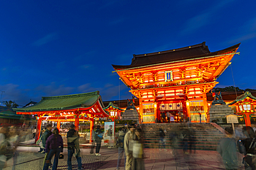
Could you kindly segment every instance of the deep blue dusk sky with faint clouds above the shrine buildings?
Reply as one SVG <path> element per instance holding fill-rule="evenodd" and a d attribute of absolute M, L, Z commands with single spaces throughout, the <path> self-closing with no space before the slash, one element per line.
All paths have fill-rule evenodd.
<path fill-rule="evenodd" d="M 232 59 L 235 85 L 255 89 L 255 6 L 235 0 L 1 1 L 1 100 L 26 105 L 96 90 L 102 100 L 131 98 L 111 64 L 203 41 L 211 52 L 241 43 Z M 217 87 L 234 85 L 232 72 L 228 67 Z"/>

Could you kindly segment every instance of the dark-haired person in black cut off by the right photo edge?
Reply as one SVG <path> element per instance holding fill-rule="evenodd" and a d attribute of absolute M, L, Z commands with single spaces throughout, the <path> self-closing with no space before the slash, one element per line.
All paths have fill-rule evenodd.
<path fill-rule="evenodd" d="M 239 148 L 240 153 L 244 153 L 243 163 L 244 168 L 248 169 L 256 169 L 256 135 L 253 131 L 252 127 L 243 127 L 242 129 L 244 135 L 246 136 L 245 139 L 239 140 L 241 142 L 242 147 L 244 149 Z M 241 151 L 242 150 L 242 151 Z"/>

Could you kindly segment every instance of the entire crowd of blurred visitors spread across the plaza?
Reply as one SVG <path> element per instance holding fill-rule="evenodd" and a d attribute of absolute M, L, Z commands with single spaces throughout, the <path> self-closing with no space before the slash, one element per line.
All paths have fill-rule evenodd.
<path fill-rule="evenodd" d="M 80 151 L 79 134 L 75 130 L 75 125 L 71 124 L 68 127 L 66 134 L 68 158 L 68 169 L 72 169 L 72 157 L 77 160 L 77 169 L 82 169 L 82 154 Z M 15 169 L 17 164 L 17 147 L 21 140 L 21 131 L 18 127 L 0 127 L 0 170 L 6 166 L 6 162 L 12 160 L 12 169 Z M 33 129 L 33 138 L 35 138 L 35 130 Z M 225 128 L 226 136 L 221 138 L 217 151 L 220 153 L 226 169 L 239 169 L 239 153 L 244 155 L 243 163 L 246 170 L 256 169 L 256 133 L 252 127 L 232 127 Z M 101 156 L 100 147 L 104 132 L 101 127 L 94 126 L 92 131 L 92 139 L 90 153 L 95 156 Z M 196 134 L 193 127 L 177 127 L 176 131 L 167 132 L 165 129 L 155 129 L 155 143 L 151 145 L 159 151 L 167 151 L 165 148 L 168 143 L 168 151 L 174 156 L 176 149 L 183 149 L 183 153 L 192 153 L 196 149 Z M 145 164 L 143 158 L 143 131 L 140 125 L 131 124 L 127 127 L 121 127 L 116 133 L 116 147 L 118 147 L 118 160 L 116 170 L 124 166 L 126 170 L 143 170 Z M 43 170 L 57 169 L 59 158 L 63 158 L 63 139 L 60 136 L 59 129 L 53 129 L 51 124 L 46 125 L 41 131 L 41 136 L 37 140 L 37 145 L 40 146 L 39 152 L 44 153 Z M 51 162 L 52 158 L 53 163 Z M 123 159 L 124 158 L 124 159 Z"/>

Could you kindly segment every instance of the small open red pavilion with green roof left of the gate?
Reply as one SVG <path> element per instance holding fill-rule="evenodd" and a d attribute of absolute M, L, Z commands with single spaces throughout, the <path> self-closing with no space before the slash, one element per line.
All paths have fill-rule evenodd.
<path fill-rule="evenodd" d="M 90 121 L 91 132 L 95 118 L 109 117 L 109 113 L 103 107 L 100 92 L 96 91 L 84 94 L 42 97 L 42 100 L 35 105 L 14 110 L 17 111 L 17 114 L 37 115 L 37 132 L 39 133 L 42 120 L 57 122 L 58 129 L 60 129 L 60 123 L 62 122 L 75 122 L 76 130 L 78 130 L 80 121 Z M 36 141 L 40 136 L 39 133 L 36 136 Z"/>

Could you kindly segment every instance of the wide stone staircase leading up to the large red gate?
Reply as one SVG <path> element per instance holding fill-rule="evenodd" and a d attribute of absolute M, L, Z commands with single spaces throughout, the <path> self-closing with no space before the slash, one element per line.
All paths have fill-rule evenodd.
<path fill-rule="evenodd" d="M 186 135 L 190 136 L 188 144 L 192 143 L 194 149 L 216 150 L 219 140 L 224 136 L 210 123 L 190 123 L 190 125 L 188 123 L 152 123 L 143 124 L 140 127 L 143 129 L 145 148 L 159 148 L 159 128 L 165 131 L 165 148 L 167 149 L 172 147 L 183 149 L 183 136 Z"/>

